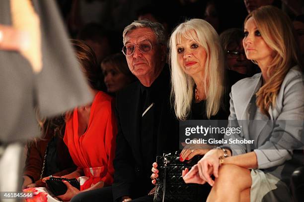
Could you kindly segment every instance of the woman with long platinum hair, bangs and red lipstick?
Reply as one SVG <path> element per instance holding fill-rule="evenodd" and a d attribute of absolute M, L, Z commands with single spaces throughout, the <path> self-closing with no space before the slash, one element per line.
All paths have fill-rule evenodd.
<path fill-rule="evenodd" d="M 170 42 L 171 98 L 179 120 L 227 120 L 231 85 L 244 78 L 225 69 L 225 57 L 216 30 L 205 20 L 191 19 L 179 24 Z M 186 145 L 180 161 L 203 155 L 208 147 Z M 152 183 L 158 177 L 153 163 Z"/>

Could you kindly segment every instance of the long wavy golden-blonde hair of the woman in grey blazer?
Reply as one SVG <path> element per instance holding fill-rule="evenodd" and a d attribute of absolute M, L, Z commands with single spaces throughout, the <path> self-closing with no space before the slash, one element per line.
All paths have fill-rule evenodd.
<path fill-rule="evenodd" d="M 262 113 L 269 115 L 268 109 L 270 106 L 275 106 L 287 72 L 296 64 L 301 66 L 300 49 L 295 40 L 296 35 L 291 20 L 279 8 L 262 6 L 245 18 L 244 25 L 250 17 L 255 20 L 265 43 L 273 50 L 273 59 L 267 69 L 269 80 L 256 93 L 257 106 Z"/>

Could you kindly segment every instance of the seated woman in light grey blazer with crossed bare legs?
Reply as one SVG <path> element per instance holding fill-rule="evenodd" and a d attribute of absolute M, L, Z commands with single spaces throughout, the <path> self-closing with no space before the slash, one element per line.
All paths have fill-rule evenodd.
<path fill-rule="evenodd" d="M 234 142 L 207 152 L 183 179 L 213 186 L 209 202 L 291 201 L 286 180 L 303 147 L 304 76 L 289 17 L 273 6 L 256 9 L 245 19 L 243 47 L 261 73 L 231 89 L 229 120 L 237 124 L 230 126 L 242 132 L 226 135 Z"/>

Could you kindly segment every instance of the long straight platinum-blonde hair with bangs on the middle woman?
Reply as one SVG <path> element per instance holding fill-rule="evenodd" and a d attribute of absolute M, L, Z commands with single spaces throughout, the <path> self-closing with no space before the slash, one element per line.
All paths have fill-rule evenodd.
<path fill-rule="evenodd" d="M 176 44 L 180 44 L 181 37 L 194 40 L 206 51 L 207 58 L 202 80 L 208 85 L 204 86 L 204 91 L 207 95 L 207 117 L 210 118 L 222 107 L 225 92 L 225 59 L 219 35 L 207 21 L 191 19 L 178 25 L 170 37 L 171 101 L 174 102 L 177 118 L 185 120 L 191 112 L 195 82 L 183 71 L 177 60 Z"/>

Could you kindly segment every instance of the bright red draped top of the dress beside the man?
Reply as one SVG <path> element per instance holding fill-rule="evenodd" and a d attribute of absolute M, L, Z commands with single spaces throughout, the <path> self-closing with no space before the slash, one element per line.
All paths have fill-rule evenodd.
<path fill-rule="evenodd" d="M 112 98 L 99 91 L 92 102 L 86 131 L 78 136 L 78 114 L 74 109 L 66 123 L 64 142 L 74 163 L 88 177 L 81 190 L 100 180 L 106 185 L 113 183 L 113 159 L 115 154 L 117 125 L 112 110 Z"/>

